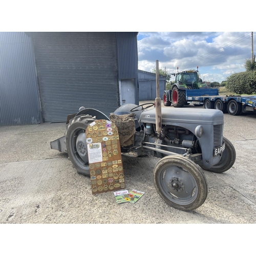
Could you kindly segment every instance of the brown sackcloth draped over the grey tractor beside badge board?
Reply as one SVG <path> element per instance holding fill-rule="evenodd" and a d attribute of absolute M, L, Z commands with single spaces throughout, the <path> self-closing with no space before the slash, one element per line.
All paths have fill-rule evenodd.
<path fill-rule="evenodd" d="M 133 117 L 134 113 L 125 115 L 110 114 L 110 120 L 117 126 L 121 146 L 130 146 L 134 144 L 136 129 Z"/>

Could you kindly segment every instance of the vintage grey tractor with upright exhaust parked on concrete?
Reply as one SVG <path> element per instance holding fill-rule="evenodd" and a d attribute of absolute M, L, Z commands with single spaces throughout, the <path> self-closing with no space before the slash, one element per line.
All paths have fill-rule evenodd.
<path fill-rule="evenodd" d="M 116 116 L 132 114 L 135 123 L 134 142 L 121 146 L 121 152 L 160 158 L 153 173 L 158 194 L 174 208 L 194 210 L 207 197 L 207 182 L 202 169 L 226 172 L 236 160 L 236 151 L 223 137 L 221 111 L 161 109 L 158 62 L 156 67 L 156 108 L 150 109 L 154 103 L 124 104 L 114 112 Z M 100 111 L 81 108 L 78 113 L 68 116 L 65 136 L 51 142 L 51 148 L 68 153 L 78 173 L 89 177 L 85 131 L 90 123 L 99 119 L 110 120 Z"/>

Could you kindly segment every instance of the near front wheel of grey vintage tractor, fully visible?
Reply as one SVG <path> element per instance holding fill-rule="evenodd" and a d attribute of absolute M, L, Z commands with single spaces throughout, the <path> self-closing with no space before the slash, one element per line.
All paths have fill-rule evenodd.
<path fill-rule="evenodd" d="M 166 156 L 156 164 L 154 185 L 160 197 L 179 210 L 194 210 L 207 198 L 202 169 L 182 156 Z"/>

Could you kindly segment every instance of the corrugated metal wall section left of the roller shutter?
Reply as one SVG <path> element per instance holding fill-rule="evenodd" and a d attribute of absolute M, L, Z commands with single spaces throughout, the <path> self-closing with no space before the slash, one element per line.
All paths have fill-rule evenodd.
<path fill-rule="evenodd" d="M 40 121 L 31 38 L 24 32 L 0 32 L 0 125 Z"/>

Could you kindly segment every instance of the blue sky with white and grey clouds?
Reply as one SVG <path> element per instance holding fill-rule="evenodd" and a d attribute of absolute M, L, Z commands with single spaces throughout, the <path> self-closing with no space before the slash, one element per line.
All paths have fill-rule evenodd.
<path fill-rule="evenodd" d="M 152 72 L 156 60 L 167 73 L 199 66 L 200 77 L 210 82 L 244 72 L 245 59 L 252 56 L 251 32 L 139 32 L 137 39 L 139 70 Z"/>

